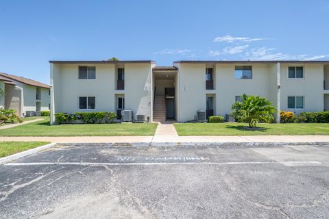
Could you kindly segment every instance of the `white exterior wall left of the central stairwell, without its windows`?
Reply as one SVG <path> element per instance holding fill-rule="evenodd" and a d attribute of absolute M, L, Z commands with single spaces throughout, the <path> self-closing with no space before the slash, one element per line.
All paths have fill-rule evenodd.
<path fill-rule="evenodd" d="M 85 65 L 85 64 L 83 64 Z M 51 64 L 51 83 L 56 112 L 117 112 L 117 94 L 125 96 L 125 110 L 145 114 L 151 119 L 151 64 L 124 64 L 125 90 L 115 90 L 115 64 L 96 66 L 96 79 L 78 79 L 79 64 Z M 95 110 L 80 110 L 79 96 L 95 96 Z"/>

